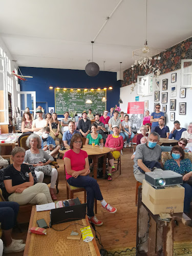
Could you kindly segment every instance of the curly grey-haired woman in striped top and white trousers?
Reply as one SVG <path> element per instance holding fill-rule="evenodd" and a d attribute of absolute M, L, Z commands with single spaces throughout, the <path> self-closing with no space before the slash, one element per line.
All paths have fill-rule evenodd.
<path fill-rule="evenodd" d="M 35 174 L 37 174 L 38 182 L 42 182 L 44 177 L 38 177 L 38 172 L 42 172 L 45 175 L 51 176 L 50 193 L 51 198 L 56 200 L 57 197 L 54 194 L 54 187 L 57 180 L 57 169 L 52 168 L 50 163 L 54 161 L 54 158 L 50 156 L 46 151 L 41 149 L 41 139 L 37 134 L 31 134 L 27 140 L 26 145 L 30 149 L 26 151 L 24 162 L 27 164 L 32 164 L 35 169 Z"/>

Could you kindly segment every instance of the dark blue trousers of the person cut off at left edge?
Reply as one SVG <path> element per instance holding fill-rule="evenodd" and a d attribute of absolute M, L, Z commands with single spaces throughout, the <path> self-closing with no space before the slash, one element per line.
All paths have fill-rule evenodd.
<path fill-rule="evenodd" d="M 2 229 L 9 230 L 16 224 L 19 204 L 16 202 L 0 202 L 0 222 Z"/>

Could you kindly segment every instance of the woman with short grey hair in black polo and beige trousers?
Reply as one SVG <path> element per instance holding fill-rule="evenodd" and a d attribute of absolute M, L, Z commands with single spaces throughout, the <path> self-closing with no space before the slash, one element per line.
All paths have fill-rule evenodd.
<path fill-rule="evenodd" d="M 25 149 L 15 147 L 11 153 L 13 164 L 4 170 L 4 184 L 8 200 L 18 204 L 47 204 L 52 203 L 49 187 L 45 183 L 34 185 L 31 170 L 23 164 Z"/>

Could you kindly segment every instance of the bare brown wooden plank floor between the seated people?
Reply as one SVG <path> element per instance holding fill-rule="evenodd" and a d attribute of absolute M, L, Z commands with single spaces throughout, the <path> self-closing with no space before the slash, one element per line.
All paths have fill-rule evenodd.
<path fill-rule="evenodd" d="M 97 203 L 97 218 L 103 221 L 103 225 L 96 227 L 101 235 L 102 245 L 106 250 L 114 250 L 125 247 L 133 247 L 136 245 L 136 221 L 137 207 L 135 207 L 135 188 L 136 180 L 133 175 L 133 160 L 131 160 L 130 148 L 123 148 L 123 156 L 121 156 L 121 175 L 116 172 L 112 175 L 113 180 L 109 182 L 105 179 L 98 179 L 101 193 L 106 202 L 117 208 L 115 214 L 110 214 Z M 63 173 L 62 160 L 58 160 L 59 164 L 59 194 L 58 200 L 66 199 L 66 181 Z M 81 201 L 83 201 L 83 193 L 77 193 Z M 22 238 L 26 240 L 27 225 L 22 226 L 23 233 L 14 230 L 13 238 Z M 191 241 L 192 228 L 184 226 L 182 223 L 175 227 L 176 242 Z M 98 244 L 99 246 L 99 244 Z M 100 246 L 99 246 L 100 249 Z M 9 255 L 23 255 L 23 253 L 14 253 Z"/>

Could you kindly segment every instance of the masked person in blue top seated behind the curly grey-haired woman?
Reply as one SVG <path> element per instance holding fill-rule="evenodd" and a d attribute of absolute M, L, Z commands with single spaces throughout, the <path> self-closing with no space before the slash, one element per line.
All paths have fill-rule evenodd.
<path fill-rule="evenodd" d="M 48 126 L 44 127 L 42 135 L 40 136 L 41 148 L 42 150 L 47 151 L 47 153 L 50 156 L 56 156 L 60 150 L 60 146 L 55 145 L 55 141 L 51 136 L 49 136 L 49 133 L 50 133 L 50 128 Z M 49 145 L 52 147 L 49 147 Z"/>

